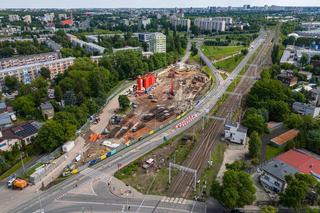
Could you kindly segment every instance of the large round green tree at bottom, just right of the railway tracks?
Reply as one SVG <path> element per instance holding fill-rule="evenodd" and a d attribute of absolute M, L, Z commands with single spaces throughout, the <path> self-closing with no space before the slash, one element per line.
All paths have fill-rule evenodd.
<path fill-rule="evenodd" d="M 229 208 L 244 207 L 255 200 L 256 189 L 250 175 L 243 171 L 228 170 L 222 185 L 214 182 L 211 195 Z"/>

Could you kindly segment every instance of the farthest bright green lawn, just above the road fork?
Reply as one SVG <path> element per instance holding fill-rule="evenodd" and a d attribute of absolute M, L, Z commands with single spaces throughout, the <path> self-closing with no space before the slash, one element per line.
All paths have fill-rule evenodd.
<path fill-rule="evenodd" d="M 211 60 L 219 60 L 224 57 L 238 53 L 244 49 L 243 46 L 206 46 L 203 45 L 201 50 Z"/>

